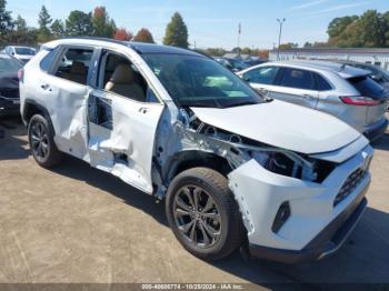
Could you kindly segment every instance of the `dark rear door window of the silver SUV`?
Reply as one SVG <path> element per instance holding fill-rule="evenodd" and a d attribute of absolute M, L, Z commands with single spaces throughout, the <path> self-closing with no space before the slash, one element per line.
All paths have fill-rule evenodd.
<path fill-rule="evenodd" d="M 285 68 L 279 86 L 312 90 L 315 80 L 310 71 Z"/>

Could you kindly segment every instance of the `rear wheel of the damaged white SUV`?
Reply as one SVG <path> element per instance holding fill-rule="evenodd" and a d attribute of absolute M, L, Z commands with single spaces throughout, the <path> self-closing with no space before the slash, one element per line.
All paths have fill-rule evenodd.
<path fill-rule="evenodd" d="M 30 119 L 28 137 L 32 157 L 39 165 L 51 168 L 61 161 L 62 153 L 54 143 L 53 129 L 44 117 L 34 114 Z"/>

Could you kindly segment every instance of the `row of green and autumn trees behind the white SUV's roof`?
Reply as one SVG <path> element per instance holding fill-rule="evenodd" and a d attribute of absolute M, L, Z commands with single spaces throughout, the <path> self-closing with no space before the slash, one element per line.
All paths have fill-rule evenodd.
<path fill-rule="evenodd" d="M 48 9 L 42 6 L 38 14 L 38 27 L 28 27 L 19 14 L 12 19 L 7 10 L 7 0 L 0 0 L 0 46 L 43 43 L 64 37 L 102 37 L 124 41 L 154 43 L 151 32 L 141 28 L 136 34 L 127 28 L 118 28 L 106 7 L 96 7 L 90 12 L 73 10 L 68 18 L 52 19 Z M 180 13 L 176 12 L 166 29 L 163 43 L 188 48 L 188 28 Z"/>

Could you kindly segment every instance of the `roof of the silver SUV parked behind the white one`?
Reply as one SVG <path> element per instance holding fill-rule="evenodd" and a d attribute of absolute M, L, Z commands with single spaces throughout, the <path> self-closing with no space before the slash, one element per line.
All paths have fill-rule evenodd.
<path fill-rule="evenodd" d="M 311 69 L 315 71 L 329 71 L 348 79 L 352 77 L 368 76 L 369 71 L 359 68 L 345 66 L 338 62 L 317 61 L 317 60 L 292 60 L 292 61 L 275 61 L 271 66 L 292 67 L 298 69 Z"/>

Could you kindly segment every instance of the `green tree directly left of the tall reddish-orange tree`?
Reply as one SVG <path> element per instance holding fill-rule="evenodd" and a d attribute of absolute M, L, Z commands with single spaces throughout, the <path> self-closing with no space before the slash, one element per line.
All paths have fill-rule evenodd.
<path fill-rule="evenodd" d="M 79 10 L 70 12 L 66 23 L 66 33 L 70 37 L 91 36 L 93 33 L 92 13 Z"/>

